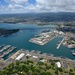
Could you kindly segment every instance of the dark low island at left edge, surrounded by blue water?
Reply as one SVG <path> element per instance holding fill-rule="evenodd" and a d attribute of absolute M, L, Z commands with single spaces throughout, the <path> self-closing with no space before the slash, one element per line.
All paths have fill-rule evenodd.
<path fill-rule="evenodd" d="M 0 36 L 11 35 L 11 34 L 16 33 L 18 31 L 19 31 L 19 29 L 3 29 L 3 28 L 0 28 Z"/>

